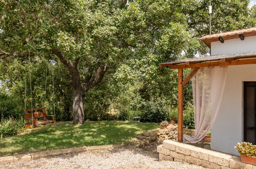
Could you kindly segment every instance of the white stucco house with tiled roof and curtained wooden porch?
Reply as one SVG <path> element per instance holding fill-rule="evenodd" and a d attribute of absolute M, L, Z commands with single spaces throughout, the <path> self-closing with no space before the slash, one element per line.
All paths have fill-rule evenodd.
<path fill-rule="evenodd" d="M 238 142 L 256 144 L 256 27 L 206 35 L 200 40 L 210 48 L 210 56 L 160 64 L 178 69 L 178 140 L 200 141 L 211 130 L 211 150 L 239 155 L 234 149 Z M 183 69 L 189 68 L 191 73 L 184 78 Z M 213 68 L 220 70 L 214 73 Z M 200 71 L 204 78 L 198 87 L 193 87 L 198 131 L 192 137 L 183 136 L 183 86 Z M 193 85 L 198 85 L 197 80 L 200 79 L 195 78 Z M 208 86 L 202 88 L 207 80 Z M 209 115 L 208 119 L 203 115 Z"/>

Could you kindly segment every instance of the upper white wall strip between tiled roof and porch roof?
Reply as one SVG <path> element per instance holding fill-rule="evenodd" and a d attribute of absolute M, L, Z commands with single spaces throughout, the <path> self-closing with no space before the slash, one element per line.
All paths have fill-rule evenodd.
<path fill-rule="evenodd" d="M 211 43 L 211 55 L 222 55 L 232 53 L 256 52 L 256 36 L 225 40 L 222 44 L 220 41 Z"/>

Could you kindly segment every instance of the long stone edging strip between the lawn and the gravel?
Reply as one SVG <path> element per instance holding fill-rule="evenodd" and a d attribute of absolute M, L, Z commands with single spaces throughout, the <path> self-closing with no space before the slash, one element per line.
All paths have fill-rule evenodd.
<path fill-rule="evenodd" d="M 100 150 L 100 149 L 114 149 L 117 147 L 122 147 L 121 144 L 110 144 L 110 145 L 96 145 L 96 146 L 81 146 L 81 147 L 73 147 L 68 149 L 59 149 L 59 150 L 48 150 L 44 152 L 35 152 L 35 153 L 28 153 L 28 154 L 19 154 L 14 156 L 5 156 L 0 157 L 0 165 L 6 164 L 10 162 L 17 162 L 17 161 L 29 161 L 43 157 L 51 157 L 51 156 L 58 156 L 64 155 L 69 153 L 81 153 L 85 151 L 91 150 Z"/>

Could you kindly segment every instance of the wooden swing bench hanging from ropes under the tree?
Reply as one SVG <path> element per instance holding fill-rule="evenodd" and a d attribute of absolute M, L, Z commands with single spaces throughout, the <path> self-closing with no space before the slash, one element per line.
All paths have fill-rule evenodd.
<path fill-rule="evenodd" d="M 55 123 L 55 116 L 48 115 L 46 108 L 37 108 L 37 109 L 26 109 L 25 110 L 25 120 L 26 128 L 35 128 L 37 125 L 45 125 L 47 123 Z M 33 112 L 34 111 L 34 112 Z M 30 112 L 30 113 L 29 113 Z M 32 116 L 33 114 L 33 116 Z M 46 117 L 52 117 L 52 120 L 48 120 Z M 43 120 L 38 120 L 38 118 L 43 118 Z M 32 120 L 32 122 L 29 122 Z"/>

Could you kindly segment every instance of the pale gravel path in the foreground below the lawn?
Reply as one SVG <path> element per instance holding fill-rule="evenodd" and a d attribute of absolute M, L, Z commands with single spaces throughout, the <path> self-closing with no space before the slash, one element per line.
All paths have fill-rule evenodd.
<path fill-rule="evenodd" d="M 94 150 L 0 165 L 0 168 L 203 168 L 188 163 L 158 161 L 158 154 L 121 147 Z"/>

